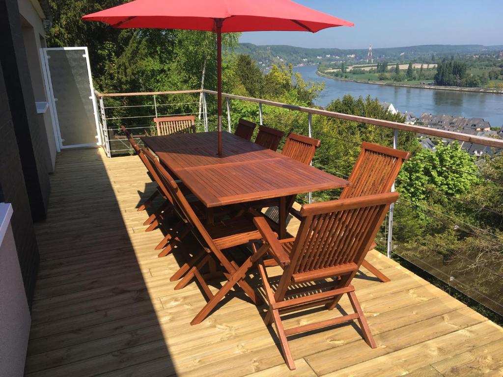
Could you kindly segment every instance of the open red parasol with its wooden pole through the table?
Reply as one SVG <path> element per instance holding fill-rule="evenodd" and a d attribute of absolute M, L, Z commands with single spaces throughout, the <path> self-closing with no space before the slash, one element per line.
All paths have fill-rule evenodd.
<path fill-rule="evenodd" d="M 218 154 L 222 155 L 221 33 L 308 31 L 352 22 L 315 11 L 290 0 L 135 0 L 82 17 L 113 28 L 158 28 L 217 33 Z"/>

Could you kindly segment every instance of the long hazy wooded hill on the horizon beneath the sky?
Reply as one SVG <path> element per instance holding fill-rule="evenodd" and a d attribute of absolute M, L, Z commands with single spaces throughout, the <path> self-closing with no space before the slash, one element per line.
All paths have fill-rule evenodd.
<path fill-rule="evenodd" d="M 374 59 L 424 60 L 436 56 L 490 54 L 503 50 L 503 45 L 424 45 L 408 47 L 372 48 Z M 254 45 L 240 43 L 238 54 L 247 54 L 263 67 L 279 62 L 314 64 L 333 61 L 361 61 L 367 59 L 368 49 L 303 48 L 286 45 Z"/>

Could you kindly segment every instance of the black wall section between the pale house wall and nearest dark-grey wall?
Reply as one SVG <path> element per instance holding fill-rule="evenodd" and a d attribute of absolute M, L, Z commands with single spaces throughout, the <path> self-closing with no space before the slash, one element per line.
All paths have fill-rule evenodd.
<path fill-rule="evenodd" d="M 17 0 L 0 0 L 0 63 L 34 221 L 46 217 L 49 176 L 47 134 L 37 118 Z M 3 143 L 4 144 L 4 143 Z"/>

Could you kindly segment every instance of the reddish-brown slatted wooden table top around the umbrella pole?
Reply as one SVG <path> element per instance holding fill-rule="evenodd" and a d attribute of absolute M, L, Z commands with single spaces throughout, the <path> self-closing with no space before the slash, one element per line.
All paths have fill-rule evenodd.
<path fill-rule="evenodd" d="M 216 154 L 216 132 L 141 140 L 208 208 L 350 185 L 228 132 L 222 132 L 222 157 Z"/>

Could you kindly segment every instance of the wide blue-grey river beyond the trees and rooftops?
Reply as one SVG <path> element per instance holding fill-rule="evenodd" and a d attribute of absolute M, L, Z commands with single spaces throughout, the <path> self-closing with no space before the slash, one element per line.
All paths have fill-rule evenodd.
<path fill-rule="evenodd" d="M 377 97 L 390 102 L 401 113 L 405 111 L 420 117 L 423 113 L 446 114 L 466 118 L 484 118 L 491 127 L 503 125 L 503 95 L 421 89 L 403 86 L 364 84 L 360 82 L 333 80 L 316 74 L 315 65 L 295 67 L 305 81 L 325 81 L 325 89 L 316 100 L 316 105 L 326 106 L 330 101 L 350 94 L 353 97 Z"/>

